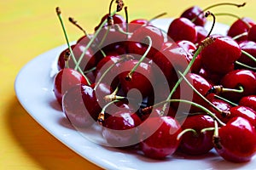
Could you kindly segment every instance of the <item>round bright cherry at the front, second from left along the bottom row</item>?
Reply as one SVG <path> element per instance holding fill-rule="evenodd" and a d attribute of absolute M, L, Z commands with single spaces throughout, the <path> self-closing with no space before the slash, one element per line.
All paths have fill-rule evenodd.
<path fill-rule="evenodd" d="M 179 123 L 170 116 L 149 117 L 139 128 L 141 150 L 145 156 L 164 159 L 178 147 Z"/>

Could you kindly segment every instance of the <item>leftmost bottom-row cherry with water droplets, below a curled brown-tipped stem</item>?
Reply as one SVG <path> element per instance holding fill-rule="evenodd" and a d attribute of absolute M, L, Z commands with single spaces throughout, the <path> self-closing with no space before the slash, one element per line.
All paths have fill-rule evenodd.
<path fill-rule="evenodd" d="M 125 147 L 138 143 L 137 126 L 141 124 L 137 114 L 118 111 L 103 122 L 102 136 L 113 147 Z"/>

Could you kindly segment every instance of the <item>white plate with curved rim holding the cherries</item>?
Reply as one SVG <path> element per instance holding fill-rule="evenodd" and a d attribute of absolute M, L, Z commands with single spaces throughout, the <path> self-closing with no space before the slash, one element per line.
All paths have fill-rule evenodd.
<path fill-rule="evenodd" d="M 166 30 L 170 20 L 155 20 L 154 24 Z M 209 25 L 210 26 L 210 25 Z M 217 31 L 225 34 L 227 26 L 217 24 Z M 15 81 L 15 92 L 21 105 L 49 133 L 80 156 L 105 169 L 253 169 L 256 158 L 247 163 L 224 161 L 211 151 L 207 156 L 184 158 L 173 156 L 164 161 L 145 158 L 131 150 L 118 150 L 90 142 L 78 133 L 61 112 L 53 94 L 55 59 L 66 48 L 54 48 L 32 59 L 20 71 Z"/>

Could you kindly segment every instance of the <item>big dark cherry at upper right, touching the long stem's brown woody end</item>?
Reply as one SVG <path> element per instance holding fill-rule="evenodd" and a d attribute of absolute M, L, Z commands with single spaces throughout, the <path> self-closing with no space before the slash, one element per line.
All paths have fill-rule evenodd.
<path fill-rule="evenodd" d="M 201 62 L 207 70 L 226 74 L 234 70 L 234 63 L 241 56 L 241 48 L 230 37 L 215 37 L 215 41 L 201 51 Z"/>

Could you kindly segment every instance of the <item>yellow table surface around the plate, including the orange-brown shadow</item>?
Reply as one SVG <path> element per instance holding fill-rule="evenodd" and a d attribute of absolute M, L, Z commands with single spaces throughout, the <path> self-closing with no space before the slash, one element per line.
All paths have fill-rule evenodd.
<path fill-rule="evenodd" d="M 124 0 L 130 19 L 150 19 L 167 12 L 178 17 L 197 4 L 202 8 L 219 2 L 237 0 Z M 65 43 L 55 7 L 61 7 L 68 37 L 74 41 L 83 33 L 68 23 L 69 16 L 92 32 L 110 0 L 8 0 L 0 1 L 0 169 L 101 169 L 68 149 L 39 126 L 15 97 L 15 77 L 38 54 Z M 256 1 L 247 0 L 244 8 L 218 7 L 212 12 L 228 12 L 256 20 Z M 124 14 L 122 12 L 121 14 Z M 219 16 L 218 22 L 230 24 L 236 19 Z"/>

